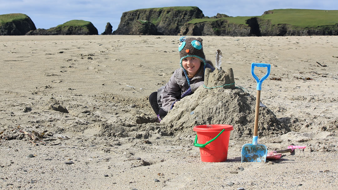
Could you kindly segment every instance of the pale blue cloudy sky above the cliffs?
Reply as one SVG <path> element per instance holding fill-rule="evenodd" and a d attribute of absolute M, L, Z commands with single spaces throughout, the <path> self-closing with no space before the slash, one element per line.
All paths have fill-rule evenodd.
<path fill-rule="evenodd" d="M 101 34 L 109 22 L 118 28 L 123 12 L 141 8 L 197 6 L 204 16 L 260 16 L 272 9 L 338 10 L 337 0 L 0 0 L 0 15 L 23 13 L 36 28 L 49 29 L 70 20 L 91 22 Z"/>

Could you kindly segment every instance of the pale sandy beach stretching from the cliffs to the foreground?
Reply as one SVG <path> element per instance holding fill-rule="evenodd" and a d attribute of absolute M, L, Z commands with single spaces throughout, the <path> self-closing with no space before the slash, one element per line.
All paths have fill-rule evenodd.
<path fill-rule="evenodd" d="M 238 88 L 199 87 L 156 123 L 148 96 L 179 67 L 179 37 L 1 36 L 0 189 L 338 188 L 338 36 L 200 36 Z M 304 150 L 241 162 L 254 128 L 252 62 L 271 65 L 259 144 Z M 201 161 L 201 123 L 234 126 L 227 161 Z"/>

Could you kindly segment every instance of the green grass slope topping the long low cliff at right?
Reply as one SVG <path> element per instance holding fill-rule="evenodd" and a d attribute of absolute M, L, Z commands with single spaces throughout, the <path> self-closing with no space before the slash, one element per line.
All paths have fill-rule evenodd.
<path fill-rule="evenodd" d="M 270 20 L 271 24 L 290 24 L 302 28 L 311 28 L 324 25 L 335 25 L 338 23 L 338 10 L 315 10 L 315 9 L 273 9 L 272 14 L 252 16 Z M 245 24 L 252 17 L 226 17 L 219 19 L 193 19 L 188 23 L 213 22 L 217 20 L 228 20 L 229 23 Z"/>

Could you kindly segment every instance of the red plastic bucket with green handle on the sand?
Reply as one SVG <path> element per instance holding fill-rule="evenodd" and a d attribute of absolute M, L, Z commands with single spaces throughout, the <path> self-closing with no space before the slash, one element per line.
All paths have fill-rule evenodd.
<path fill-rule="evenodd" d="M 194 146 L 199 147 L 202 162 L 224 162 L 228 156 L 231 125 L 199 125 Z M 197 143 L 198 139 L 198 143 Z"/>

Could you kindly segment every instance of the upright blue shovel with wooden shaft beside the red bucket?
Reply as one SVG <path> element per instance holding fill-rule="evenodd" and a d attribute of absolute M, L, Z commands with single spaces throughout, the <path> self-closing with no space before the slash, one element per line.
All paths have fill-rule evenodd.
<path fill-rule="evenodd" d="M 267 67 L 267 73 L 264 75 L 264 77 L 261 78 L 261 80 L 259 80 L 259 78 L 254 73 L 255 66 Z M 262 82 L 269 76 L 269 74 L 270 74 L 270 64 L 251 63 L 251 75 L 257 81 L 254 137 L 252 137 L 252 144 L 244 144 L 242 146 L 242 162 L 265 162 L 266 161 L 266 154 L 268 152 L 268 149 L 263 144 L 257 144 L 257 140 L 258 140 L 258 115 L 259 115 L 259 104 L 260 104 L 260 98 L 261 98 Z"/>

